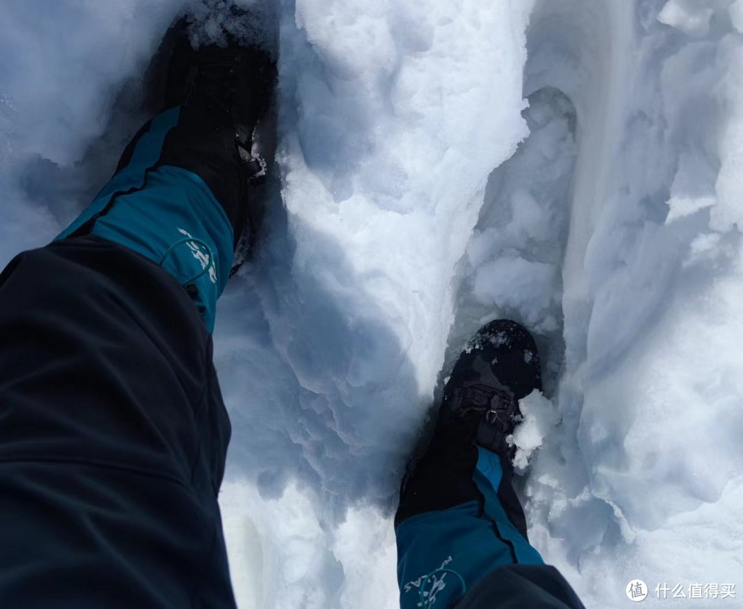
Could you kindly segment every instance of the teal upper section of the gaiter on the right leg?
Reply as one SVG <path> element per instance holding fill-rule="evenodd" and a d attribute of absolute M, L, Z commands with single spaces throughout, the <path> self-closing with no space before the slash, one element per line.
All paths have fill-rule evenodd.
<path fill-rule="evenodd" d="M 497 494 L 502 476 L 497 455 L 480 448 L 474 479 L 484 502 L 426 512 L 398 526 L 401 609 L 447 609 L 498 567 L 544 564 L 506 516 Z"/>

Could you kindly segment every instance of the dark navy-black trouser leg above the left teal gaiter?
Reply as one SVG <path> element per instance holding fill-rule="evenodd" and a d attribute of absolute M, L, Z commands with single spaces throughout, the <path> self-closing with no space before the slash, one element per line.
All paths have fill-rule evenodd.
<path fill-rule="evenodd" d="M 95 237 L 0 277 L 0 607 L 234 608 L 210 335 L 157 265 Z"/>

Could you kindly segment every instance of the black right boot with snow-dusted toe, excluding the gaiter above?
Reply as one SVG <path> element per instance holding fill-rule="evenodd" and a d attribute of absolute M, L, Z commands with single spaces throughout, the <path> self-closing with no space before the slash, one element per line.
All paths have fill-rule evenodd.
<path fill-rule="evenodd" d="M 510 320 L 483 326 L 459 356 L 444 388 L 437 428 L 464 425 L 477 445 L 513 459 L 508 446 L 519 400 L 542 390 L 539 352 L 528 330 Z"/>

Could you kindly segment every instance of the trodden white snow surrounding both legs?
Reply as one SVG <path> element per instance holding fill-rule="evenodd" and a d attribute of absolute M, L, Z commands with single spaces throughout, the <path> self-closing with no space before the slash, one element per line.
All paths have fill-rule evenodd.
<path fill-rule="evenodd" d="M 0 3 L 1 262 L 111 173 L 183 6 Z M 531 539 L 585 604 L 743 586 L 743 0 L 265 15 L 280 183 L 215 332 L 241 608 L 395 607 L 404 460 L 500 316 L 559 417 L 519 483 Z"/>

